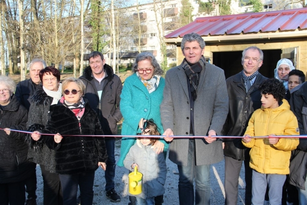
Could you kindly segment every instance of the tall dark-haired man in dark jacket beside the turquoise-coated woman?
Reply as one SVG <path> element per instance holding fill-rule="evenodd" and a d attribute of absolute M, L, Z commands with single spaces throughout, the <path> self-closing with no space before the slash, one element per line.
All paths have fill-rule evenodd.
<path fill-rule="evenodd" d="M 117 134 L 117 122 L 122 114 L 119 109 L 122 82 L 113 73 L 112 67 L 105 64 L 103 54 L 93 51 L 89 55 L 90 66 L 84 69 L 80 79 L 85 84 L 85 98 L 89 99 L 90 106 L 99 117 L 101 128 L 105 135 Z M 105 147 L 108 155 L 105 170 L 106 196 L 113 202 L 120 201 L 115 188 L 115 138 L 105 138 Z"/>

